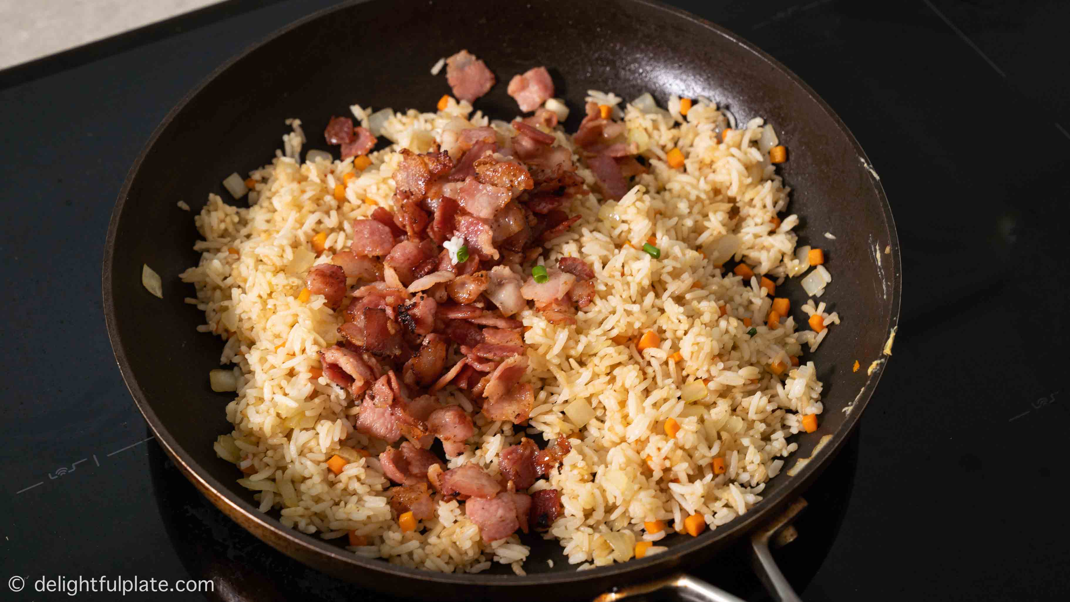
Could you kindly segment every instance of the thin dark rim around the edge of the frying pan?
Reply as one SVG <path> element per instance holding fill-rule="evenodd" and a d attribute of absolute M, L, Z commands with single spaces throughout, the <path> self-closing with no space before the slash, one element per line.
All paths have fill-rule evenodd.
<path fill-rule="evenodd" d="M 764 61 L 775 71 L 782 74 L 786 81 L 785 84 L 794 83 L 798 86 L 802 92 L 814 102 L 820 109 L 830 118 L 839 132 L 846 137 L 847 141 L 852 144 L 854 151 L 858 155 L 861 161 L 865 161 L 866 166 L 872 165 L 869 157 L 866 155 L 858 140 L 847 128 L 846 124 L 839 118 L 839 115 L 832 110 L 832 108 L 805 81 L 802 81 L 795 73 L 789 70 L 786 66 L 781 64 L 779 61 L 774 59 L 771 56 L 767 55 L 755 45 L 747 42 L 735 33 L 713 24 L 706 19 L 698 17 L 690 14 L 684 10 L 676 9 L 674 6 L 666 5 L 657 0 L 613 0 L 617 4 L 622 5 L 640 5 L 654 9 L 666 13 L 669 18 L 684 19 L 690 24 L 697 25 L 704 28 L 713 35 L 719 35 L 725 38 L 728 42 L 743 47 L 748 52 L 754 55 L 761 61 Z M 568 584 L 577 582 L 585 582 L 597 578 L 612 577 L 615 575 L 624 575 L 633 570 L 639 569 L 652 569 L 657 565 L 662 565 L 661 570 L 669 570 L 671 565 L 675 564 L 678 558 L 686 556 L 687 554 L 694 552 L 699 549 L 705 547 L 715 541 L 724 542 L 733 541 L 738 539 L 743 535 L 749 532 L 760 523 L 766 521 L 769 515 L 776 512 L 779 508 L 786 505 L 795 496 L 792 492 L 797 492 L 800 489 L 805 489 L 816 476 L 827 466 L 828 461 L 836 456 L 839 449 L 842 447 L 846 438 L 851 435 L 854 429 L 858 425 L 858 420 L 861 417 L 862 411 L 868 404 L 873 391 L 876 388 L 881 376 L 884 373 L 887 362 L 882 362 L 874 372 L 868 376 L 866 384 L 861 388 L 859 396 L 853 403 L 854 411 L 851 412 L 844 423 L 840 427 L 837 433 L 831 433 L 834 437 L 830 441 L 830 445 L 822 447 L 816 453 L 811 457 L 811 460 L 794 476 L 784 475 L 792 480 L 790 484 L 785 484 L 783 489 L 776 492 L 774 495 L 763 498 L 758 505 L 755 505 L 746 514 L 734 519 L 732 522 L 719 527 L 715 530 L 707 530 L 706 532 L 693 538 L 690 541 L 686 541 L 681 544 L 674 545 L 668 553 L 657 554 L 641 559 L 632 559 L 627 562 L 612 564 L 606 567 L 597 567 L 585 571 L 568 571 L 560 570 L 546 573 L 532 573 L 528 575 L 509 575 L 509 574 L 488 574 L 488 573 L 440 573 L 434 571 L 427 571 L 423 569 L 414 569 L 408 567 L 400 567 L 397 565 L 392 565 L 382 559 L 378 558 L 364 558 L 356 556 L 355 554 L 346 552 L 327 541 L 315 538 L 312 536 L 301 532 L 296 529 L 292 529 L 284 526 L 278 519 L 270 514 L 260 512 L 250 503 L 243 498 L 240 498 L 233 492 L 231 492 L 223 482 L 211 476 L 207 470 L 200 467 L 200 465 L 193 460 L 182 448 L 178 445 L 174 437 L 170 434 L 167 427 L 163 425 L 159 418 L 156 416 L 155 412 L 152 410 L 148 401 L 148 396 L 138 383 L 137 376 L 131 369 L 131 362 L 126 354 L 126 349 L 124 345 L 123 337 L 119 333 L 117 325 L 117 314 L 114 296 L 112 294 L 112 287 L 114 282 L 113 269 L 114 269 L 114 242 L 116 235 L 120 222 L 120 218 L 123 214 L 123 209 L 125 206 L 126 200 L 129 195 L 129 189 L 133 185 L 137 173 L 146 158 L 146 156 L 152 151 L 157 142 L 158 138 L 163 132 L 174 121 L 174 119 L 182 112 L 182 110 L 188 105 L 188 103 L 199 95 L 211 82 L 216 78 L 225 74 L 232 65 L 239 61 L 245 59 L 262 46 L 268 43 L 289 33 L 290 31 L 297 29 L 310 21 L 323 18 L 332 13 L 347 10 L 356 4 L 363 4 L 358 0 L 349 0 L 341 4 L 331 6 L 318 12 L 315 12 L 306 17 L 295 20 L 270 34 L 262 37 L 261 40 L 250 44 L 245 49 L 243 49 L 238 55 L 228 59 L 226 62 L 220 64 L 218 67 L 213 70 L 208 76 L 205 76 L 196 87 L 190 89 L 183 97 L 175 104 L 173 108 L 165 115 L 160 123 L 153 129 L 152 135 L 146 142 L 144 146 L 134 160 L 131 166 L 129 171 L 123 182 L 120 189 L 116 206 L 112 210 L 111 217 L 108 223 L 108 232 L 105 238 L 105 250 L 103 258 L 103 274 L 102 274 L 102 288 L 103 288 L 103 305 L 105 322 L 108 330 L 108 338 L 111 343 L 112 352 L 114 353 L 116 360 L 123 376 L 123 381 L 126 384 L 131 396 L 134 398 L 134 402 L 138 410 L 141 412 L 146 421 L 148 422 L 150 429 L 156 435 L 157 441 L 167 451 L 175 462 L 181 464 L 183 473 L 187 478 L 196 479 L 196 484 L 204 491 L 210 491 L 215 496 L 214 503 L 217 505 L 226 505 L 233 512 L 238 512 L 244 515 L 246 519 L 251 520 L 257 523 L 260 528 L 270 531 L 276 538 L 281 540 L 288 540 L 295 545 L 299 545 L 305 550 L 309 550 L 316 554 L 328 556 L 334 561 L 355 565 L 361 568 L 370 569 L 373 571 L 399 576 L 399 577 L 410 577 L 417 578 L 423 582 L 433 582 L 433 583 L 448 583 L 454 585 L 475 585 L 475 586 L 495 586 L 495 587 L 511 587 L 511 586 L 529 586 L 529 585 L 548 585 L 548 584 Z M 861 166 L 860 166 L 861 168 Z M 873 174 L 875 176 L 875 173 Z M 888 294 L 887 303 L 888 307 L 888 322 L 885 324 L 885 331 L 891 331 L 898 326 L 899 323 L 899 312 L 900 312 L 900 302 L 902 295 L 902 262 L 900 258 L 900 244 L 899 237 L 896 230 L 895 219 L 891 213 L 891 206 L 885 195 L 884 188 L 881 185 L 878 177 L 869 177 L 870 185 L 873 186 L 874 192 L 880 200 L 882 209 L 884 211 L 885 226 L 887 228 L 887 233 L 889 236 L 888 245 L 891 247 L 890 254 L 892 259 L 891 269 L 889 271 L 889 277 L 891 284 L 891 290 Z M 230 516 L 233 520 L 233 516 Z M 251 529 L 247 529 L 250 530 Z M 251 531 L 257 535 L 258 538 L 263 539 L 256 531 Z"/>

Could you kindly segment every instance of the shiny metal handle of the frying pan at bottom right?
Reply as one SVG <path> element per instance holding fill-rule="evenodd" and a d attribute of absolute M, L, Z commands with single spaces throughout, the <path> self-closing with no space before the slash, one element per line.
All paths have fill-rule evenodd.
<path fill-rule="evenodd" d="M 804 508 L 806 508 L 806 500 L 800 497 L 774 521 L 750 536 L 751 565 L 769 595 L 778 602 L 801 602 L 801 600 L 773 559 L 773 554 L 769 552 L 769 541 L 777 536 L 785 538 L 786 541 L 794 539 L 794 530 L 791 529 L 790 525 Z M 737 598 L 719 587 L 684 573 L 608 591 L 595 598 L 594 602 L 616 602 L 661 589 L 671 589 L 676 596 L 690 602 L 745 602 L 742 598 Z"/>

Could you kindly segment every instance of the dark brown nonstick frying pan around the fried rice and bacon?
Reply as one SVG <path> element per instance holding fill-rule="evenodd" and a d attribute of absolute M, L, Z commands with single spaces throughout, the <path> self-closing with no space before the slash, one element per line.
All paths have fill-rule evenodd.
<path fill-rule="evenodd" d="M 556 95 L 572 109 L 569 132 L 588 89 L 625 98 L 651 92 L 662 106 L 670 94 L 703 95 L 742 123 L 764 117 L 789 148 L 790 160 L 782 165 L 793 188 L 789 212 L 801 216 L 800 244 L 827 250 L 834 280 L 821 300 L 831 304 L 843 324 L 810 354 L 826 383 L 821 428 L 795 437 L 799 449 L 785 465 L 793 469 L 771 479 L 764 499 L 743 516 L 699 537 L 667 538 L 669 551 L 662 554 L 588 571 L 568 565 L 555 541 L 532 536 L 524 539 L 532 545 L 528 575 L 502 566 L 487 573 L 442 574 L 361 558 L 284 527 L 276 514 L 256 510 L 251 492 L 235 482 L 233 465 L 216 458 L 212 443 L 230 430 L 224 412 L 230 397 L 213 393 L 205 374 L 217 367 L 221 342 L 196 331 L 203 315 L 183 303 L 194 291 L 178 275 L 197 263 L 192 250 L 197 232 L 192 215 L 175 203 L 184 200 L 196 213 L 209 192 L 229 198 L 220 181 L 268 163 L 288 129 L 287 118 L 303 120 L 308 148 L 326 149 L 320 133 L 350 104 L 433 107 L 449 90 L 444 77 L 428 71 L 461 48 L 498 76 L 499 83 L 475 103 L 492 117 L 517 113 L 505 92 L 511 75 L 547 65 Z M 825 232 L 836 240 L 826 240 Z M 142 288 L 142 264 L 163 277 L 163 299 Z M 761 529 L 777 524 L 858 422 L 883 371 L 883 364 L 871 373 L 865 367 L 885 358 L 882 350 L 898 320 L 900 258 L 881 183 L 844 124 L 795 75 L 710 22 L 641 0 L 381 0 L 345 4 L 293 24 L 216 70 L 171 110 L 119 195 L 103 285 L 116 359 L 157 441 L 216 507 L 293 558 L 363 587 L 428 600 L 590 599 L 611 590 L 609 597 L 617 598 L 659 586 L 727 600 L 716 588 L 681 575 L 744 535 L 765 537 Z M 794 281 L 782 290 L 795 307 L 805 300 Z M 855 360 L 863 367 L 857 373 Z M 796 465 L 797 459 L 809 461 Z M 552 568 L 548 559 L 554 560 Z M 775 569 L 771 575 L 777 578 Z"/>

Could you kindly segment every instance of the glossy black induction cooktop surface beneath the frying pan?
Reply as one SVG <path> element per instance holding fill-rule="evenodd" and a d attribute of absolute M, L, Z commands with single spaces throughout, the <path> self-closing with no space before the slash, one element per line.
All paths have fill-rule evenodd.
<path fill-rule="evenodd" d="M 776 553 L 789 580 L 808 601 L 1066 600 L 1070 5 L 672 3 L 831 105 L 902 243 L 895 355 Z M 224 3 L 0 72 L 0 600 L 74 598 L 35 584 L 101 576 L 212 582 L 132 600 L 382 598 L 260 543 L 194 490 L 135 408 L 101 308 L 108 218 L 152 129 L 227 58 L 331 4 Z M 743 557 L 700 576 L 765 599 Z"/>

